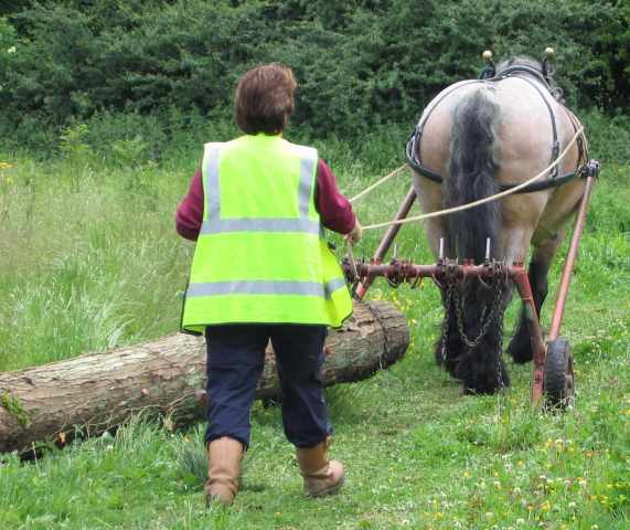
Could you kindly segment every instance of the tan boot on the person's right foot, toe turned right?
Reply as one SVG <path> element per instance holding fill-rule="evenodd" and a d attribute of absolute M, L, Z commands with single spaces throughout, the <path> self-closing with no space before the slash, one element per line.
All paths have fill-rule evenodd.
<path fill-rule="evenodd" d="M 328 459 L 329 446 L 330 438 L 327 438 L 314 447 L 296 449 L 305 490 L 311 497 L 335 494 L 343 485 L 343 466 L 340 462 Z"/>

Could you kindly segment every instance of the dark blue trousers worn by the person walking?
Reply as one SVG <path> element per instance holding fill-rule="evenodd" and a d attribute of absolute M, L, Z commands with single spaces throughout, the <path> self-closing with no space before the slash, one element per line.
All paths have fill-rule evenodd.
<path fill-rule="evenodd" d="M 332 433 L 320 370 L 325 326 L 224 325 L 206 328 L 206 442 L 222 436 L 249 446 L 250 412 L 269 340 L 276 352 L 282 424 L 289 442 L 312 447 Z"/>

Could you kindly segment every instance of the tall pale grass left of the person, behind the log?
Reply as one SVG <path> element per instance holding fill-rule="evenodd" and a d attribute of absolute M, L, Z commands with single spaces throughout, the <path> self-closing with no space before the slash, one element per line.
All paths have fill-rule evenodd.
<path fill-rule="evenodd" d="M 175 329 L 183 172 L 13 160 L 0 225 L 0 370 Z"/>

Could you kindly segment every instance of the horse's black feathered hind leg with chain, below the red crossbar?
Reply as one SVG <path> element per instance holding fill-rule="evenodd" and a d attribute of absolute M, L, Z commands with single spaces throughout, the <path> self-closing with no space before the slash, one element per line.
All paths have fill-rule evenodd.
<path fill-rule="evenodd" d="M 456 377 L 463 381 L 468 394 L 493 394 L 510 386 L 510 377 L 501 357 L 503 340 L 503 312 L 510 286 L 499 292 L 477 284 L 462 293 L 462 328 L 468 344 L 456 370 Z M 484 326 L 488 318 L 491 322 Z M 485 328 L 485 329 L 483 329 Z"/>

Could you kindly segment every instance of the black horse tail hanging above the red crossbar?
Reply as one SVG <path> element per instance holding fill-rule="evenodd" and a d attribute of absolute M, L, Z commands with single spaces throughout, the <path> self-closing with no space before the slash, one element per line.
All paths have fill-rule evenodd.
<path fill-rule="evenodd" d="M 447 177 L 442 187 L 445 206 L 459 206 L 496 193 L 499 169 L 499 106 L 481 88 L 466 96 L 455 108 Z M 481 263 L 485 240 L 498 247 L 501 206 L 491 201 L 448 216 L 450 257 Z"/>

